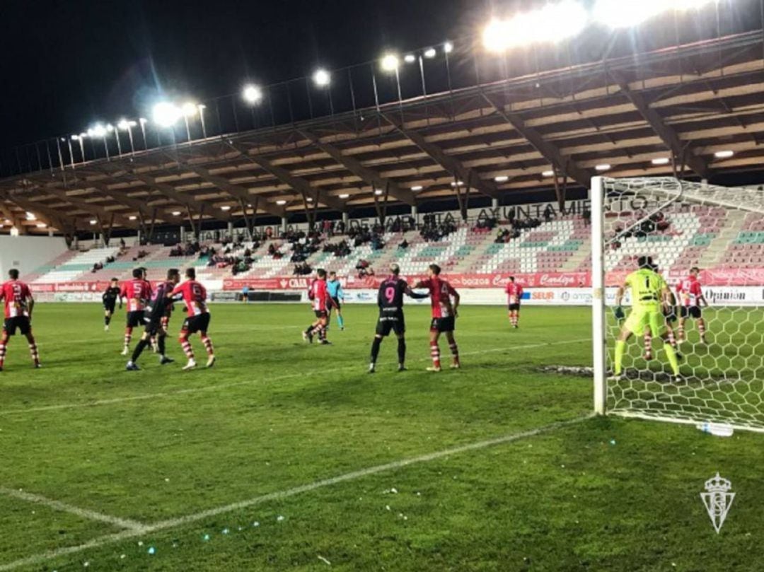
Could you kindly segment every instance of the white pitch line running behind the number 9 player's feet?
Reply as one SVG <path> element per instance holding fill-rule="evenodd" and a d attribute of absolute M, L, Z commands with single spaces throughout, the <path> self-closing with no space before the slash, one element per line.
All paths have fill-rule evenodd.
<path fill-rule="evenodd" d="M 539 344 L 526 344 L 526 345 L 510 346 L 510 347 L 494 347 L 494 348 L 491 348 L 490 350 L 465 351 L 465 352 L 461 352 L 460 355 L 468 356 L 468 355 L 478 355 L 478 354 L 492 354 L 497 351 L 529 350 L 529 349 L 533 349 L 534 347 L 557 346 L 557 345 L 563 345 L 563 344 L 578 344 L 583 341 L 591 341 L 591 338 L 580 338 L 577 340 L 549 341 L 549 342 L 542 342 Z M 429 361 L 429 359 L 430 359 L 429 357 L 420 357 L 413 361 L 424 361 L 424 360 Z M 0 411 L 0 417 L 5 417 L 6 415 L 19 415 L 24 413 L 60 411 L 62 409 L 84 409 L 87 407 L 114 405 L 115 403 L 144 401 L 146 399 L 158 399 L 163 397 L 173 397 L 173 396 L 188 395 L 193 393 L 202 393 L 206 391 L 218 391 L 219 389 L 225 389 L 228 387 L 245 386 L 245 385 L 250 385 L 251 383 L 259 383 L 259 382 L 267 383 L 267 382 L 274 382 L 274 381 L 281 381 L 281 380 L 289 380 L 293 377 L 312 377 L 319 374 L 325 375 L 327 373 L 338 373 L 343 370 L 361 371 L 363 369 L 359 369 L 358 366 L 356 365 L 350 365 L 350 366 L 343 366 L 343 367 L 335 367 L 334 369 L 331 369 L 331 370 L 316 370 L 316 371 L 313 371 L 312 373 L 311 372 L 289 373 L 283 376 L 270 377 L 266 379 L 233 381 L 230 383 L 215 383 L 214 385 L 210 385 L 210 386 L 190 387 L 188 389 L 176 389 L 174 391 L 163 391 L 159 393 L 141 393 L 140 395 L 128 396 L 128 397 L 113 397 L 111 399 L 96 399 L 95 401 L 80 402 L 80 403 L 59 403 L 54 406 L 28 407 L 26 409 L 8 409 L 6 411 Z"/>

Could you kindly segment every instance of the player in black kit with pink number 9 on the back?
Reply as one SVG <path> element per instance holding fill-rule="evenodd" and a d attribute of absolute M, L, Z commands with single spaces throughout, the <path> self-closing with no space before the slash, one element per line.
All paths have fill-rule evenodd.
<path fill-rule="evenodd" d="M 398 371 L 406 371 L 406 322 L 403 319 L 403 294 L 414 299 L 428 298 L 429 294 L 413 292 L 406 280 L 400 278 L 400 267 L 390 264 L 390 276 L 380 284 L 377 292 L 377 305 L 380 308 L 380 318 L 377 322 L 377 334 L 371 343 L 371 364 L 369 373 L 374 373 L 377 367 L 377 356 L 380 354 L 382 338 L 394 331 L 398 338 Z"/>

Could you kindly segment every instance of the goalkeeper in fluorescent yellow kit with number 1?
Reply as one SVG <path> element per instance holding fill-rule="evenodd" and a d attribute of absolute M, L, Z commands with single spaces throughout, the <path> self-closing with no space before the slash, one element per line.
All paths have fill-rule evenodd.
<path fill-rule="evenodd" d="M 665 315 L 663 315 L 664 309 L 671 302 L 671 289 L 663 280 L 663 276 L 653 270 L 651 257 L 639 257 L 637 263 L 639 270 L 626 276 L 623 286 L 618 288 L 616 294 L 615 315 L 618 320 L 623 320 L 626 317 L 623 308 L 621 308 L 623 293 L 626 288 L 631 289 L 632 309 L 621 328 L 618 341 L 616 341 L 616 364 L 613 373 L 616 378 L 620 378 L 626 341 L 629 341 L 629 338 L 634 334 L 641 336 L 649 330 L 652 334 L 659 335 L 663 339 L 663 350 L 666 357 L 669 358 L 669 364 L 671 364 L 675 378 L 678 378 L 679 361 L 671 344 L 671 336 L 666 328 Z"/>

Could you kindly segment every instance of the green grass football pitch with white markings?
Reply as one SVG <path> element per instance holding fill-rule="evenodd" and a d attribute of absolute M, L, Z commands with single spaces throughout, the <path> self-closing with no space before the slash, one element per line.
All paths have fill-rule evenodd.
<path fill-rule="evenodd" d="M 764 436 L 591 416 L 588 309 L 467 306 L 427 373 L 429 309 L 366 373 L 376 309 L 332 346 L 306 305 L 212 305 L 218 363 L 125 371 L 124 314 L 40 304 L 0 373 L 2 570 L 761 570 Z M 193 339 L 203 356 L 199 338 Z M 444 362 L 448 345 L 441 341 Z M 202 361 L 202 360 L 199 360 Z M 736 499 L 714 532 L 700 493 Z"/>

